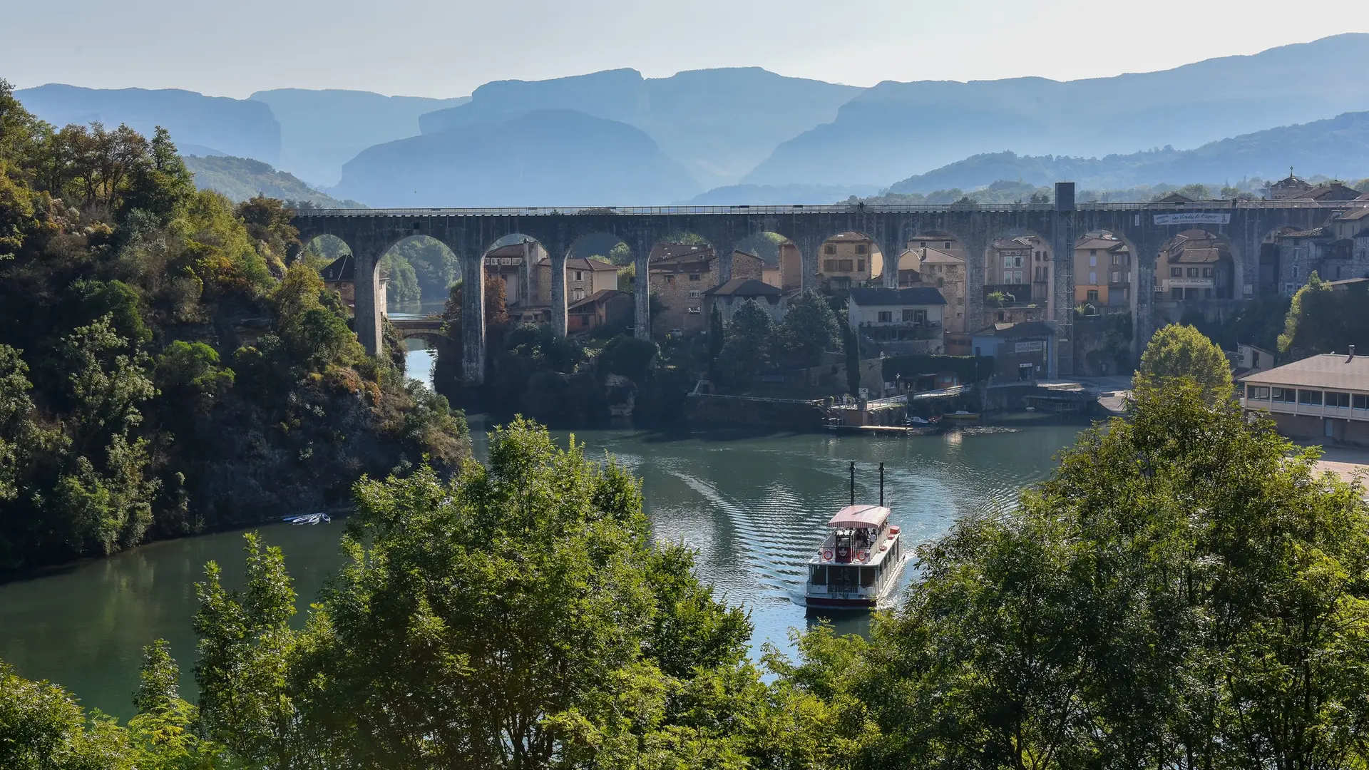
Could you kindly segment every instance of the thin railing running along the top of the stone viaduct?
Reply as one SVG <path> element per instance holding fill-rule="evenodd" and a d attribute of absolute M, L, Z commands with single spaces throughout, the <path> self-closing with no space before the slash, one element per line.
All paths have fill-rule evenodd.
<path fill-rule="evenodd" d="M 1212 211 L 1240 208 L 1364 208 L 1369 200 L 1195 200 L 1191 203 L 1080 203 L 1080 211 Z M 591 207 L 511 207 L 511 208 L 308 208 L 296 211 L 296 216 L 585 216 L 585 215 L 700 215 L 700 214 L 939 214 L 947 211 L 1051 211 L 1049 203 L 950 203 L 950 204 L 898 204 L 862 206 L 836 204 L 793 204 L 793 206 L 591 206 Z"/>

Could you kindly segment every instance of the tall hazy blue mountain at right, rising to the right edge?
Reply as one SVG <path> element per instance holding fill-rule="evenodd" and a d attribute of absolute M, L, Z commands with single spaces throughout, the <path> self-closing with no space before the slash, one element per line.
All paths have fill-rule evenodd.
<path fill-rule="evenodd" d="M 888 184 L 1003 148 L 1106 155 L 1192 148 L 1369 108 L 1369 34 L 1340 34 L 1160 73 L 1057 82 L 882 82 L 779 145 L 743 182 Z"/>

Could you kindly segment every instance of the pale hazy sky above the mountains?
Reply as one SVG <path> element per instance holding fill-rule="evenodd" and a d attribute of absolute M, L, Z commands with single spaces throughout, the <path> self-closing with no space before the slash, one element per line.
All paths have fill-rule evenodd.
<path fill-rule="evenodd" d="M 505 78 L 760 66 L 852 85 L 1150 71 L 1369 32 L 1365 0 L 0 0 L 19 88 L 463 96 Z"/>

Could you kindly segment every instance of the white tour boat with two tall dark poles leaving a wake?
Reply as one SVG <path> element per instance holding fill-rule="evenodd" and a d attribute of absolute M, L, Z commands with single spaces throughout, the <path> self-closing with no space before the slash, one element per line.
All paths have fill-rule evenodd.
<path fill-rule="evenodd" d="M 856 504 L 856 463 L 852 473 L 852 504 L 827 526 L 817 555 L 808 560 L 804 603 L 812 608 L 873 610 L 898 586 L 908 554 L 902 532 L 888 523 L 884 507 L 884 463 L 879 463 L 879 506 Z"/>

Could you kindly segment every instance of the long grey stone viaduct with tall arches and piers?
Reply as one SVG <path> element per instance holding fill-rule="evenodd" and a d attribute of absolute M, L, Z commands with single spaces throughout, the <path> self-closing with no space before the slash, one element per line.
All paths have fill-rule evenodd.
<path fill-rule="evenodd" d="M 1369 201 L 1191 201 L 1090 203 L 1075 206 L 1073 182 L 1055 185 L 1057 204 L 949 204 L 949 206 L 709 206 L 709 207 L 594 207 L 594 208 L 345 208 L 301 210 L 292 223 L 300 240 L 335 236 L 356 260 L 356 330 L 367 351 L 381 347 L 381 308 L 376 307 L 381 256 L 400 241 L 435 238 L 461 262 L 463 371 L 468 385 L 485 381 L 485 270 L 483 256 L 511 234 L 535 238 L 552 259 L 552 323 L 565 333 L 565 258 L 576 241 L 609 234 L 632 249 L 638 275 L 648 275 L 652 247 L 679 233 L 704 237 L 719 255 L 721 281 L 732 271 L 732 248 L 757 233 L 778 233 L 793 241 L 802 256 L 804 286 L 817 285 L 819 251 L 839 233 L 869 237 L 884 255 L 886 285 L 897 285 L 898 255 L 914 236 L 954 236 L 965 249 L 965 319 L 973 329 L 983 318 L 988 247 L 997 238 L 1039 236 L 1054 259 L 1053 307 L 1057 327 L 1051 377 L 1073 374 L 1072 315 L 1075 306 L 1073 243 L 1077 234 L 1109 230 L 1134 255 L 1132 316 L 1136 340 L 1150 338 L 1154 326 L 1155 258 L 1177 233 L 1201 227 L 1221 236 L 1235 262 L 1235 299 L 1258 292 L 1259 245 L 1281 227 L 1306 230 L 1325 222 L 1335 210 Z M 931 240 L 931 238 L 928 238 Z M 528 266 L 530 269 L 531 266 Z M 649 282 L 637 281 L 635 334 L 650 336 Z"/>

